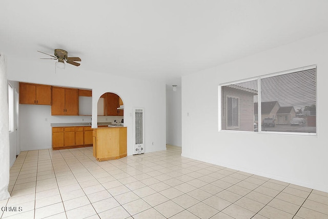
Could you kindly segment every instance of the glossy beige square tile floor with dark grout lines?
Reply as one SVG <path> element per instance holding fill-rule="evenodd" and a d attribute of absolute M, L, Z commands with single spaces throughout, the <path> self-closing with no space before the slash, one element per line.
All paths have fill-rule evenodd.
<path fill-rule="evenodd" d="M 328 218 L 328 193 L 181 157 L 170 145 L 106 162 L 92 147 L 23 151 L 9 191 L 1 218 Z"/>

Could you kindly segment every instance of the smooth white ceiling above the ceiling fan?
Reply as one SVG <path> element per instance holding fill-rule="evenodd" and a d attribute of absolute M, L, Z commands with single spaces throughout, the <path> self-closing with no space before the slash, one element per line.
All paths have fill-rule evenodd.
<path fill-rule="evenodd" d="M 177 84 L 326 32 L 327 9 L 326 0 L 1 0 L 0 52 L 54 65 L 36 51 L 60 48 L 82 59 L 77 68 Z"/>

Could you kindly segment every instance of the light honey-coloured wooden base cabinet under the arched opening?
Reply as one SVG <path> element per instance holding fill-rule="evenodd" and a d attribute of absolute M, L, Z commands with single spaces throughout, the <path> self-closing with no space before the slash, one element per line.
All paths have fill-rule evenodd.
<path fill-rule="evenodd" d="M 93 156 L 97 161 L 127 156 L 127 127 L 107 127 L 93 130 Z"/>

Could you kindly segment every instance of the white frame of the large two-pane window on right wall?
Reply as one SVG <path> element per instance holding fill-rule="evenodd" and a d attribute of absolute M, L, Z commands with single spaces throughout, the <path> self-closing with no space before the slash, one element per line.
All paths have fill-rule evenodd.
<path fill-rule="evenodd" d="M 222 129 L 222 87 L 223 86 L 228 86 L 228 85 L 232 85 L 232 84 L 238 84 L 238 83 L 243 83 L 243 82 L 249 82 L 249 81 L 254 81 L 257 80 L 258 83 L 258 121 L 259 118 L 261 118 L 262 120 L 262 115 L 261 115 L 261 79 L 263 78 L 268 78 L 268 77 L 274 77 L 274 76 L 279 76 L 279 75 L 284 75 L 284 74 L 289 74 L 289 73 L 295 73 L 295 72 L 299 72 L 299 71 L 305 71 L 305 70 L 310 70 L 310 69 L 316 69 L 316 81 L 315 81 L 315 102 L 316 102 L 316 132 L 315 133 L 308 133 L 308 132 L 278 132 L 278 131 L 262 131 L 262 124 L 259 122 L 258 123 L 258 131 L 241 131 L 241 130 L 229 130 L 229 129 Z M 250 78 L 245 78 L 245 79 L 241 79 L 238 81 L 232 81 L 232 82 L 228 82 L 228 83 L 222 83 L 218 85 L 218 131 L 219 132 L 249 132 L 249 133 L 257 133 L 257 134 L 279 134 L 279 135 L 306 135 L 306 136 L 317 136 L 318 135 L 318 113 L 317 113 L 317 106 L 318 106 L 318 82 L 317 82 L 317 65 L 311 65 L 311 66 L 304 66 L 301 68 L 295 68 L 295 69 L 291 69 L 291 70 L 286 70 L 286 71 L 280 71 L 280 72 L 275 72 L 275 73 L 270 73 L 270 74 L 264 74 L 264 75 L 260 75 L 260 76 L 256 76 L 256 77 L 250 77 Z M 238 104 L 238 107 L 239 104 Z M 227 108 L 227 106 L 226 106 Z M 227 109 L 226 109 L 227 110 Z M 238 109 L 238 113 L 240 113 L 240 109 Z M 227 117 L 227 116 L 226 116 Z M 226 121 L 227 124 L 227 121 Z M 238 125 L 240 125 L 239 121 L 238 121 Z M 228 127 L 228 126 L 226 126 Z M 232 128 L 231 128 L 232 129 Z"/>

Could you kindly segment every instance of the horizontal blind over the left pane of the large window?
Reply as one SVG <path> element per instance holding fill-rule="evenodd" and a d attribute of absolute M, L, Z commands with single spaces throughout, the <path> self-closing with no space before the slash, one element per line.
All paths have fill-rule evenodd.
<path fill-rule="evenodd" d="M 257 80 L 221 86 L 221 129 L 257 131 L 254 103 Z"/>

